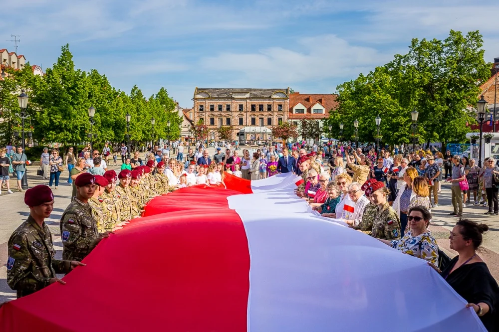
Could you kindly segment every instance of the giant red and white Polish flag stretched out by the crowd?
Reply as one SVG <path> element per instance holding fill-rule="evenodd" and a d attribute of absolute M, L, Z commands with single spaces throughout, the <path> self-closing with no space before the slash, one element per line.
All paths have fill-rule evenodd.
<path fill-rule="evenodd" d="M 485 331 L 425 261 L 322 218 L 298 177 L 228 175 L 152 200 L 0 331 Z"/>

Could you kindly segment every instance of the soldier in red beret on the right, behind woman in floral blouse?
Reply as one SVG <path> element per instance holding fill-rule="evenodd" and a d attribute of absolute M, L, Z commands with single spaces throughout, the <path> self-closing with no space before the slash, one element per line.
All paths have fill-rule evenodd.
<path fill-rule="evenodd" d="M 390 191 L 383 182 L 373 181 L 366 192 L 371 196 L 371 201 L 378 206 L 378 212 L 373 220 L 371 236 L 384 240 L 399 240 L 401 234 L 400 220 L 397 212 L 388 204 L 386 198 Z"/>

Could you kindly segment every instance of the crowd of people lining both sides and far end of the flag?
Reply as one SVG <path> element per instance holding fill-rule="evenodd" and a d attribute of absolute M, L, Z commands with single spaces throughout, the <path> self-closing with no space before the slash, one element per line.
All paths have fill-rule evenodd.
<path fill-rule="evenodd" d="M 56 149 L 50 152 L 45 149 L 41 155 L 40 169 L 49 180 L 48 186 L 39 185 L 26 191 L 30 216 L 8 243 L 7 282 L 18 297 L 53 282 L 63 283 L 55 273 L 68 273 L 82 265 L 79 262 L 101 239 L 139 217 L 145 204 L 157 195 L 198 184 L 219 185 L 227 173 L 257 180 L 289 172 L 302 177 L 296 194 L 313 210 L 323 217 L 343 221 L 401 253 L 427 261 L 470 303 L 489 331 L 493 331 L 492 317 L 497 315 L 499 288 L 476 252 L 488 226 L 462 218 L 464 202 L 470 199 L 472 192 L 476 205 L 487 205 L 488 214 L 498 215 L 499 168 L 492 159 L 480 168 L 467 158 L 443 158 L 440 153 L 433 155 L 428 151 L 393 157 L 389 151 L 380 151 L 378 157 L 374 149 L 366 154 L 361 149 L 338 149 L 329 159 L 327 169 L 319 151 L 307 152 L 300 145 L 292 145 L 291 149 L 283 146 L 280 149 L 278 146 L 261 150 L 249 148 L 239 156 L 239 151 L 231 151 L 230 146 L 225 147 L 225 153 L 217 148 L 211 155 L 200 144 L 196 153 L 189 149 L 184 156 L 184 147 L 178 144 L 173 158 L 170 147 L 166 150 L 157 146 L 144 160 L 138 152 L 134 152 L 133 158 L 123 156 L 121 170 L 116 173 L 107 167 L 111 153 L 106 148 L 102 155 L 90 147 L 85 147 L 79 155 L 73 153 L 73 148 L 69 148 L 64 157 L 59 156 Z M 2 170 L 5 155 L 1 150 Z M 7 159 L 12 161 L 8 165 L 22 165 L 22 150 Z M 444 174 L 449 160 L 453 165 Z M 23 171 L 15 168 L 16 172 Z M 50 215 L 53 206 L 50 187 L 55 184 L 57 189 L 64 169 L 69 171 L 68 182 L 72 183 L 73 192 L 60 223 L 63 260 L 52 260 L 51 266 L 40 269 L 26 263 L 33 259 L 33 253 L 27 248 L 43 242 L 51 246 L 43 219 Z M 16 174 L 19 179 L 20 175 Z M 439 249 L 429 230 L 432 208 L 439 204 L 442 181 L 451 182 L 454 208 L 451 214 L 459 218 L 449 236 L 451 248 L 459 253 L 453 260 Z M 483 201 L 485 197 L 487 203 Z M 45 238 L 40 238 L 41 233 L 33 235 L 33 229 L 42 229 Z M 47 260 L 48 256 L 53 257 L 53 249 L 42 256 Z"/>

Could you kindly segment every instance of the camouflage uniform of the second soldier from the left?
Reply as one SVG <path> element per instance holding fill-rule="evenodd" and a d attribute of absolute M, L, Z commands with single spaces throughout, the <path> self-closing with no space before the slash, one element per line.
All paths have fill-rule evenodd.
<path fill-rule="evenodd" d="M 62 214 L 60 231 L 65 260 L 83 260 L 99 241 L 92 208 L 76 197 Z"/>

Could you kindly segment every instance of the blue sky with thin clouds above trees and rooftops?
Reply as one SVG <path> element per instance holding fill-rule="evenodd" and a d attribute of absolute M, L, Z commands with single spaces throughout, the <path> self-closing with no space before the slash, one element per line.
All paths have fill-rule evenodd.
<path fill-rule="evenodd" d="M 473 3 L 473 4 L 472 4 Z M 336 86 L 406 53 L 411 39 L 480 30 L 499 57 L 490 1 L 23 0 L 2 5 L 0 48 L 50 67 L 69 43 L 75 65 L 146 96 L 161 86 L 182 107 L 198 87 Z M 9 14 L 6 14 L 9 13 Z M 496 33 L 495 33 L 496 32 Z"/>

